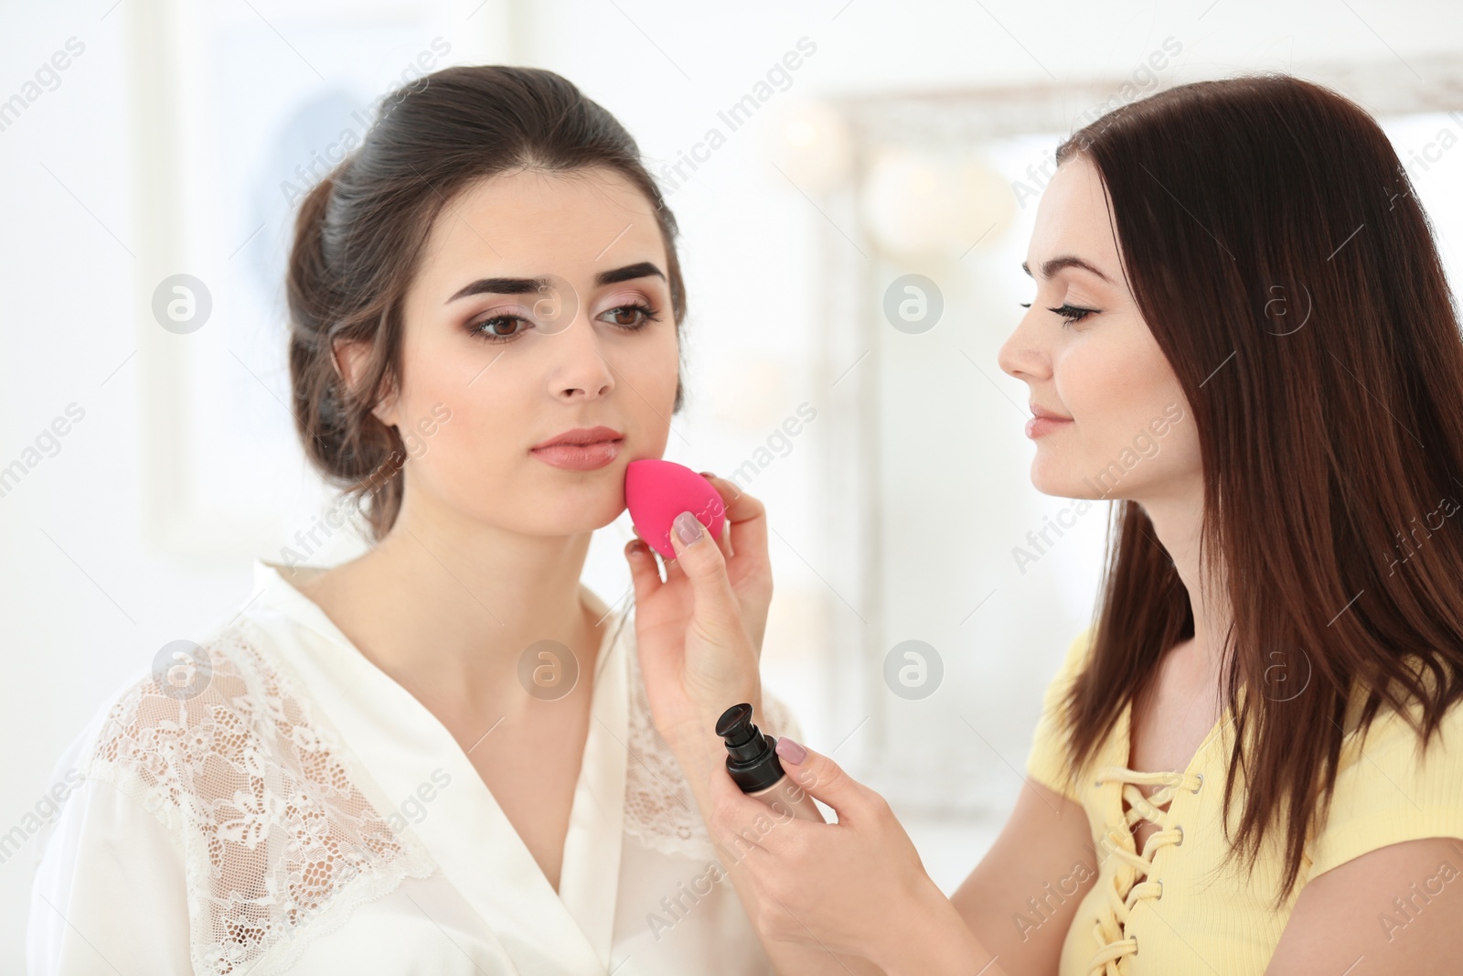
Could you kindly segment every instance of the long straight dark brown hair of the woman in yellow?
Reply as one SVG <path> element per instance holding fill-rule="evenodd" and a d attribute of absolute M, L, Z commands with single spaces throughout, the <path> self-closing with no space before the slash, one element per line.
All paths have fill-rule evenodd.
<path fill-rule="evenodd" d="M 1349 699 L 1365 695 L 1362 730 L 1385 704 L 1425 745 L 1463 697 L 1463 525 L 1445 524 L 1463 492 L 1457 313 L 1397 154 L 1330 89 L 1182 85 L 1056 151 L 1078 155 L 1192 410 L 1201 562 L 1233 613 L 1225 809 L 1236 771 L 1248 787 L 1226 838 L 1252 871 L 1283 831 L 1279 907 L 1325 817 Z M 1113 514 L 1091 658 L 1065 699 L 1074 770 L 1194 635 L 1151 521 L 1132 500 Z"/>

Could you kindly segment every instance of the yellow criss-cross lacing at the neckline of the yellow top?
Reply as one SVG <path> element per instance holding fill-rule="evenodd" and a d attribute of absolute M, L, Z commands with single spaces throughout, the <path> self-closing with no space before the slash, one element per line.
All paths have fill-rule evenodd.
<path fill-rule="evenodd" d="M 1181 789 L 1198 793 L 1204 784 L 1204 777 L 1191 773 L 1137 773 L 1121 765 L 1105 765 L 1097 770 L 1097 784 L 1107 781 L 1122 783 L 1122 799 L 1128 809 L 1124 812 L 1127 824 L 1122 831 L 1109 830 L 1103 838 L 1106 853 L 1118 857 L 1124 866 L 1118 868 L 1112 876 L 1112 885 L 1103 891 L 1106 912 L 1093 925 L 1093 939 L 1100 947 L 1090 963 L 1088 976 L 1122 976 L 1121 960 L 1138 953 L 1138 936 L 1128 934 L 1128 916 L 1134 906 L 1144 898 L 1159 898 L 1163 894 L 1163 882 L 1150 879 L 1153 871 L 1153 856 L 1169 844 L 1184 843 L 1184 828 L 1179 825 L 1148 834 L 1143 844 L 1143 853 L 1137 853 L 1132 837 L 1132 827 L 1146 819 L 1159 825 L 1165 811 Z M 1159 786 L 1163 789 L 1144 796 L 1140 786 Z M 1141 878 L 1141 881 L 1140 881 Z"/>

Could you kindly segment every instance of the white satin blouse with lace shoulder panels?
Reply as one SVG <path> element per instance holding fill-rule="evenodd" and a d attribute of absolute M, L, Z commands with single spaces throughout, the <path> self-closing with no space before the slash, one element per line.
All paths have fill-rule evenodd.
<path fill-rule="evenodd" d="M 61 757 L 85 781 L 44 841 L 32 976 L 771 972 L 650 721 L 629 612 L 554 891 L 446 727 L 281 569 L 255 563 L 193 694 L 142 677 Z"/>

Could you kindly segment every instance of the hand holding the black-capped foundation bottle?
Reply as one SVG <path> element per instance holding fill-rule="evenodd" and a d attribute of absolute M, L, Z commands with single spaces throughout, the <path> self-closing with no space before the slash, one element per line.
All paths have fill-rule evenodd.
<path fill-rule="evenodd" d="M 838 822 L 778 817 L 724 768 L 710 771 L 708 825 L 730 875 L 742 872 L 755 896 L 764 939 L 859 956 L 891 976 L 969 975 L 992 961 L 882 796 L 791 739 L 778 739 L 777 754 Z"/>

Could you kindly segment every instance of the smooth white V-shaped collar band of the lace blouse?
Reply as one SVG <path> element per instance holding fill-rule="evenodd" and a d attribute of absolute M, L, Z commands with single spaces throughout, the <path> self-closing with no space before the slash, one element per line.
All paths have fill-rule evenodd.
<path fill-rule="evenodd" d="M 255 596 L 241 613 L 275 638 L 309 697 L 375 780 L 386 809 L 424 811 L 407 830 L 415 831 L 525 976 L 603 973 L 625 817 L 629 651 L 626 639 L 613 639 L 632 626 L 622 620 L 625 612 L 606 620 L 595 661 L 556 893 L 446 726 L 361 654 L 319 604 L 287 581 L 291 575 L 291 568 L 255 560 Z M 432 784 L 443 776 L 449 786 L 437 790 Z M 433 796 L 426 803 L 413 799 L 423 786 Z"/>

